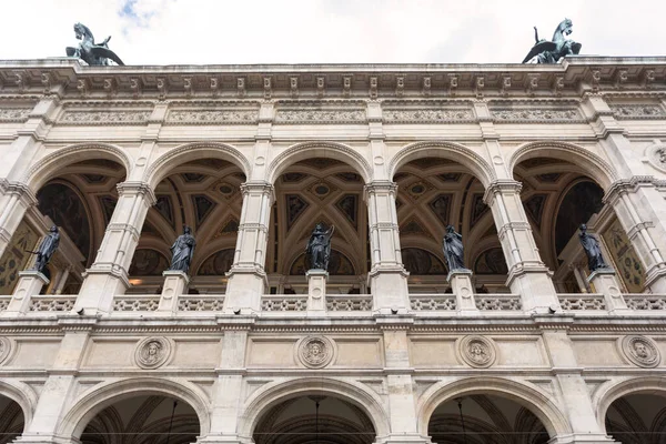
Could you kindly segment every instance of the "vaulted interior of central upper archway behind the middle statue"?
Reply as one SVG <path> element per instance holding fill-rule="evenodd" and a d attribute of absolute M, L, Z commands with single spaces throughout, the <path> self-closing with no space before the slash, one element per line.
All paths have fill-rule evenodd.
<path fill-rule="evenodd" d="M 344 162 L 312 158 L 289 167 L 275 182 L 266 271 L 271 293 L 306 293 L 305 246 L 314 225 L 335 226 L 327 293 L 366 293 L 367 210 L 363 178 Z"/>

